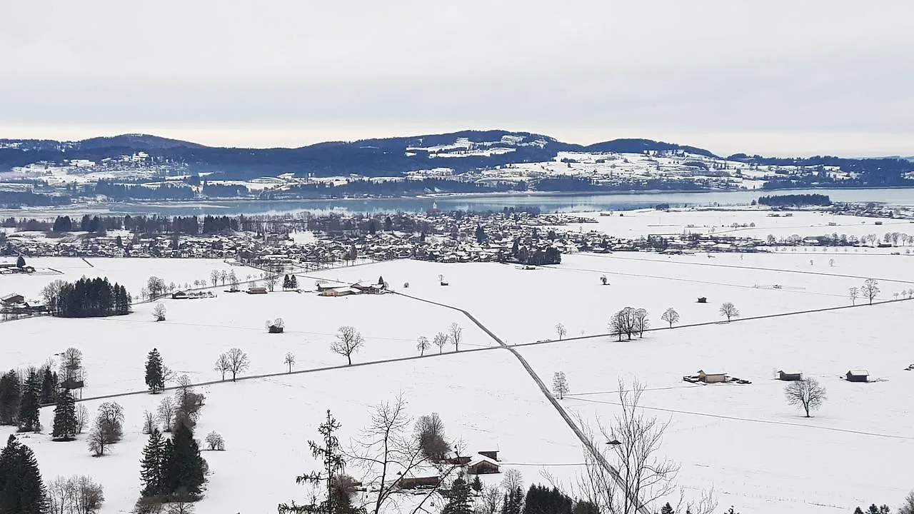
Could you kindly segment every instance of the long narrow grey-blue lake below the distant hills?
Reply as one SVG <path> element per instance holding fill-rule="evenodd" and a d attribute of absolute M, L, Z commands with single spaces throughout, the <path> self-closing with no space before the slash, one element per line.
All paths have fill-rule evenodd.
<path fill-rule="evenodd" d="M 449 196 L 436 198 L 356 198 L 314 200 L 212 200 L 95 204 L 63 209 L 23 209 L 0 211 L 2 216 L 47 217 L 58 214 L 94 212 L 112 215 L 158 214 L 163 216 L 237 216 L 279 215 L 310 211 L 336 212 L 422 212 L 437 204 L 441 210 L 502 210 L 505 207 L 538 207 L 543 212 L 593 210 L 631 210 L 668 203 L 671 207 L 716 207 L 749 205 L 763 195 L 828 195 L 833 201 L 884 202 L 889 205 L 914 206 L 914 188 L 872 189 L 793 189 L 780 191 L 708 191 L 697 193 L 608 193 Z"/>

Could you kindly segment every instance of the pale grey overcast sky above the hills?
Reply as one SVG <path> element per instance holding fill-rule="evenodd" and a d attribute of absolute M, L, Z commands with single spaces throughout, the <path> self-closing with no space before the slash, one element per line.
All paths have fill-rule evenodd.
<path fill-rule="evenodd" d="M 911 0 L 0 0 L 0 137 L 914 155 Z"/>

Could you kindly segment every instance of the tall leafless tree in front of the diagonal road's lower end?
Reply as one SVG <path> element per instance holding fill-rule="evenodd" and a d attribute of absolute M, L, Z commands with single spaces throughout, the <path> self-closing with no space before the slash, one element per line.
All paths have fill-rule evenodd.
<path fill-rule="evenodd" d="M 638 514 L 643 509 L 659 511 L 661 498 L 675 493 L 679 466 L 660 457 L 668 423 L 644 414 L 639 408 L 644 386 L 634 381 L 630 388 L 619 381 L 619 413 L 609 426 L 598 420 L 598 434 L 579 419 L 589 441 L 585 449 L 585 471 L 579 477 L 577 495 L 592 503 L 601 514 Z M 709 493 L 679 509 L 708 514 L 717 508 Z"/>

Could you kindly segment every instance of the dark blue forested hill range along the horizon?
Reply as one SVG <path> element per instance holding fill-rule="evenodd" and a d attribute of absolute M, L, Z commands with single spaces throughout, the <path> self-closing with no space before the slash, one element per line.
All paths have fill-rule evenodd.
<path fill-rule="evenodd" d="M 74 159 L 98 162 L 143 152 L 153 163 L 180 165 L 191 173 L 209 172 L 215 174 L 214 178 L 243 180 L 276 177 L 285 173 L 312 174 L 315 177 L 349 174 L 389 177 L 434 167 L 448 167 L 462 173 L 495 166 L 546 162 L 554 160 L 559 152 L 643 154 L 654 151 L 720 158 L 704 148 L 651 139 L 613 139 L 593 145 L 576 145 L 545 134 L 504 130 L 336 141 L 297 148 L 224 148 L 149 134 L 121 134 L 82 141 L 0 139 L 0 170 L 38 162 L 62 164 Z M 727 159 L 768 166 L 838 166 L 859 174 L 856 182 L 864 186 L 900 185 L 907 181 L 905 174 L 914 171 L 910 158 L 897 157 L 850 159 L 824 155 L 774 158 L 735 154 Z M 771 187 L 803 185 L 791 177 L 771 182 Z"/>

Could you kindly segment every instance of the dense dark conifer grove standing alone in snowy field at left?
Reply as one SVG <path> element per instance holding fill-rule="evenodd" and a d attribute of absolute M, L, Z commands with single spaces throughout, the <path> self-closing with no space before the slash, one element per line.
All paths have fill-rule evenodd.
<path fill-rule="evenodd" d="M 131 297 L 124 286 L 107 278 L 80 278 L 74 283 L 56 280 L 41 291 L 54 316 L 122 316 L 131 312 Z"/>

